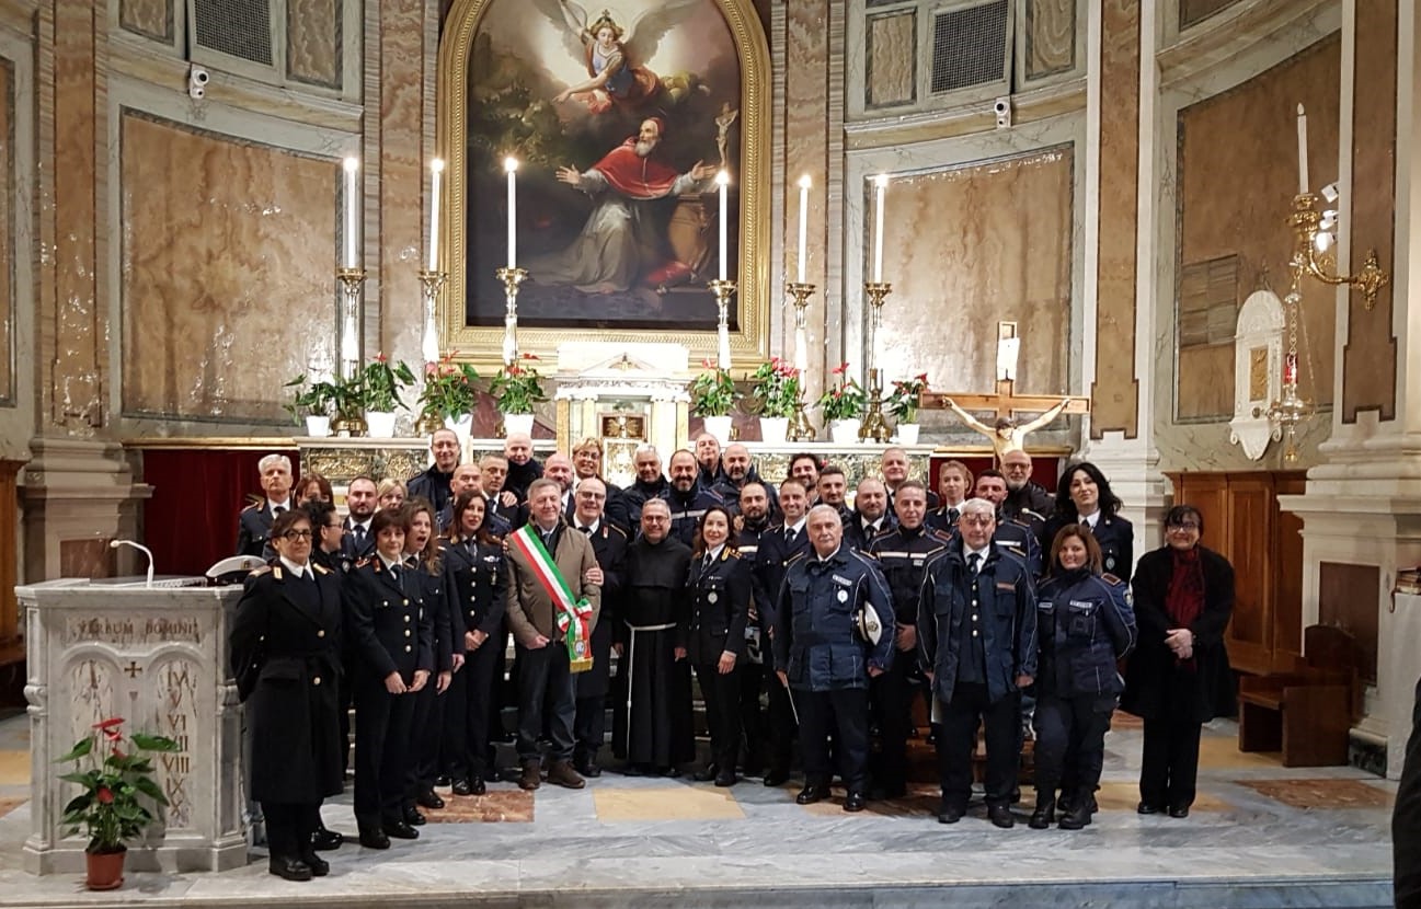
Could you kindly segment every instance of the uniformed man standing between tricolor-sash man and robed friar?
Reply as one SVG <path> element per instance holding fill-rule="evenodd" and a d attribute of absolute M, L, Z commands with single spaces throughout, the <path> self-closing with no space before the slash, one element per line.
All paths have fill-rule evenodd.
<path fill-rule="evenodd" d="M 622 574 L 627 570 L 627 531 L 607 517 L 607 484 L 583 477 L 573 493 L 574 511 L 568 527 L 593 541 L 593 555 L 603 570 L 603 606 L 593 628 L 593 668 L 577 673 L 577 712 L 573 716 L 573 768 L 584 777 L 600 777 L 597 750 L 607 741 L 607 692 L 611 686 L 612 628 L 621 622 Z"/>

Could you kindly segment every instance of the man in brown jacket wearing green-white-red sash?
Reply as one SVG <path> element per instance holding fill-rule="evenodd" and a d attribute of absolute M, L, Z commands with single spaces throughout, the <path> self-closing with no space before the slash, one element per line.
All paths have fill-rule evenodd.
<path fill-rule="evenodd" d="M 591 632 L 601 608 L 603 571 L 593 544 L 563 523 L 563 489 L 529 486 L 529 523 L 509 537 L 507 619 L 519 658 L 519 785 L 541 784 L 539 739 L 544 726 L 549 783 L 581 788 L 573 768 L 573 673 L 591 668 Z"/>

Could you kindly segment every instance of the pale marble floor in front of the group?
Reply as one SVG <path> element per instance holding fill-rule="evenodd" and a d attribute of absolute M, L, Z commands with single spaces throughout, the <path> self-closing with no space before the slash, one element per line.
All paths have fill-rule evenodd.
<path fill-rule="evenodd" d="M 980 805 L 934 818 L 931 785 L 850 815 L 794 804 L 796 784 L 730 790 L 614 771 L 585 790 L 495 784 L 450 800 L 416 842 L 345 845 L 331 875 L 288 883 L 260 852 L 226 873 L 131 873 L 122 891 L 23 871 L 28 727 L 0 722 L 0 905 L 340 906 L 1390 906 L 1394 783 L 1344 767 L 1285 768 L 1205 731 L 1201 798 L 1187 820 L 1134 811 L 1138 724 L 1107 739 L 1100 814 L 1077 831 L 992 827 Z M 926 758 L 918 746 L 919 760 Z M 446 795 L 448 797 L 448 795 Z M 1027 790 L 1025 802 L 1030 804 Z M 354 834 L 350 795 L 325 807 Z"/>

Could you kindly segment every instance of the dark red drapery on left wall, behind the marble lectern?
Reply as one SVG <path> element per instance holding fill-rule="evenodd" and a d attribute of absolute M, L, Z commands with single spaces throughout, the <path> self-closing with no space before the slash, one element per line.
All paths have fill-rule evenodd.
<path fill-rule="evenodd" d="M 144 544 L 158 574 L 203 574 L 237 551 L 237 514 L 260 496 L 257 462 L 270 452 L 145 449 Z M 300 466 L 296 450 L 280 452 Z"/>

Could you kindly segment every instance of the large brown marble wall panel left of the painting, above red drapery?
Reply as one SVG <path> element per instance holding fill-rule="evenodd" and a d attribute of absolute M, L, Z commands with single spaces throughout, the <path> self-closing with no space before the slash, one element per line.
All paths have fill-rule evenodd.
<path fill-rule="evenodd" d="M 281 420 L 334 362 L 338 163 L 132 112 L 121 142 L 125 415 Z"/>

